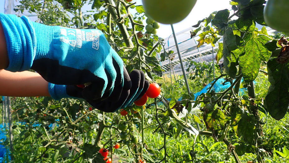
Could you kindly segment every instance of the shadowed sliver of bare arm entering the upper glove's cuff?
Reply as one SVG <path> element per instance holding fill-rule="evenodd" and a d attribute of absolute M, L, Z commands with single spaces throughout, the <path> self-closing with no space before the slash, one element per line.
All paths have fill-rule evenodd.
<path fill-rule="evenodd" d="M 7 68 L 9 64 L 6 40 L 3 32 L 2 25 L 0 23 L 0 69 Z"/>

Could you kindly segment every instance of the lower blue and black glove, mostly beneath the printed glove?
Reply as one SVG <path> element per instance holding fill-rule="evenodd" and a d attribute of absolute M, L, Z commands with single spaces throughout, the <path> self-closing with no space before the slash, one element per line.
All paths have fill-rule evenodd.
<path fill-rule="evenodd" d="M 149 87 L 149 81 L 145 80 L 145 75 L 142 71 L 133 70 L 130 75 L 124 68 L 124 84 L 115 86 L 111 95 L 108 98 L 100 98 L 90 100 L 85 98 L 87 92 L 90 92 L 91 87 L 97 83 L 92 83 L 85 88 L 79 88 L 75 85 L 56 85 L 49 83 L 49 94 L 55 100 L 61 98 L 82 98 L 85 99 L 96 109 L 104 112 L 115 112 L 119 109 L 126 108 L 139 98 L 141 98 Z M 90 92 L 91 93 L 91 92 Z"/>

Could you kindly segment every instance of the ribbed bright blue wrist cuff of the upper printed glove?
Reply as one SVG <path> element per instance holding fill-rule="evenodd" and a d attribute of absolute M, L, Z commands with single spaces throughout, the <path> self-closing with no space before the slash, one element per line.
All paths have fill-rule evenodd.
<path fill-rule="evenodd" d="M 32 66 L 36 41 L 31 21 L 26 17 L 5 15 L 0 13 L 0 21 L 3 27 L 9 65 L 6 70 L 20 72 L 29 70 Z"/>

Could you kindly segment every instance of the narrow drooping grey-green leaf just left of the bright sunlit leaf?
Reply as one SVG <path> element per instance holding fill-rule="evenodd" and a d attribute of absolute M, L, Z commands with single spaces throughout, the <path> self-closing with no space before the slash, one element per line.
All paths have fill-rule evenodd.
<path fill-rule="evenodd" d="M 238 46 L 236 44 L 236 36 L 233 33 L 232 27 L 229 27 L 225 30 L 223 39 L 223 57 L 225 70 L 231 78 L 235 78 L 237 73 L 237 58 L 235 53 L 237 54 L 238 51 L 235 51 L 235 53 L 231 53 L 231 51 L 236 50 Z"/>

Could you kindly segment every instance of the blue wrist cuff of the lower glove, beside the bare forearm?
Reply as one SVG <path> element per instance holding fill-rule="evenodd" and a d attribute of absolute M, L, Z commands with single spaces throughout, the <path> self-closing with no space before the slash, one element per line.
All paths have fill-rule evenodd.
<path fill-rule="evenodd" d="M 66 93 L 66 85 L 56 85 L 49 83 L 48 91 L 54 100 L 61 100 L 62 98 L 74 98 Z"/>

